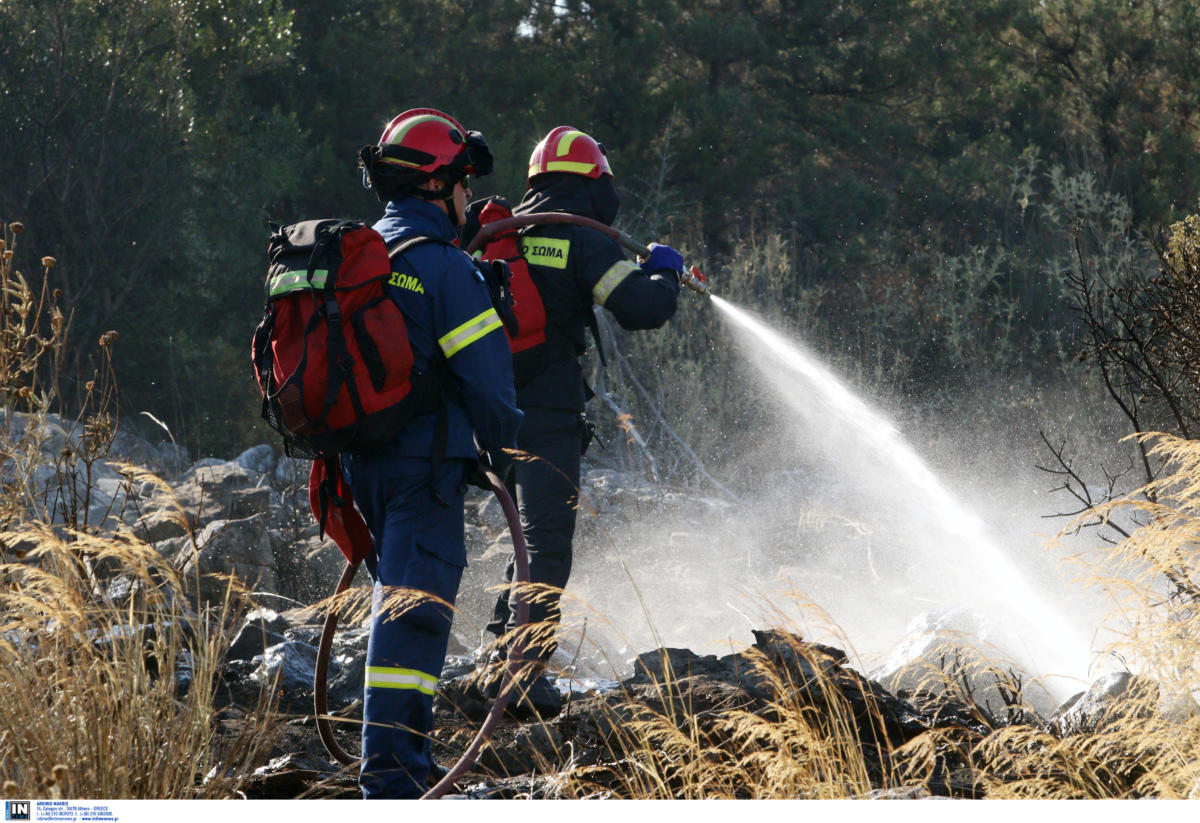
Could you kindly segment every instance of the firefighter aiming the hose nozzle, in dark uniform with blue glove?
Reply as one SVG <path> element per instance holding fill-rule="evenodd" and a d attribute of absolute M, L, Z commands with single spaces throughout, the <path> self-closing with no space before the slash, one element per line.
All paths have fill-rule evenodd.
<path fill-rule="evenodd" d="M 512 212 L 564 211 L 612 224 L 619 205 L 604 146 L 571 126 L 559 126 L 534 148 L 527 191 Z M 674 314 L 683 258 L 670 246 L 653 245 L 650 251 L 638 266 L 593 228 L 535 224 L 522 232 L 521 252 L 545 308 L 546 342 L 514 356 L 517 406 L 524 413 L 517 435 L 523 456 L 512 463 L 508 482 L 521 509 L 533 583 L 563 589 L 571 573 L 580 458 L 590 439 L 583 412 L 592 390 L 580 356 L 589 328 L 595 332 L 593 306 L 604 307 L 629 330 L 656 329 Z M 510 558 L 506 583 L 512 572 Z M 562 708 L 560 695 L 545 675 L 556 648 L 559 599 L 535 600 L 530 623 L 544 631 L 524 653 L 529 665 L 511 705 L 517 716 L 547 719 Z M 497 599 L 487 626 L 492 633 L 514 627 L 516 605 L 511 590 Z M 492 678 L 487 692 L 497 690 Z"/>

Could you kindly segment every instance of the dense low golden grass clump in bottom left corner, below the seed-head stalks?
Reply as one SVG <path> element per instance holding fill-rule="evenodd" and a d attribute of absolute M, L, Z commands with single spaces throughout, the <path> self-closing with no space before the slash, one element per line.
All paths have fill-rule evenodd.
<path fill-rule="evenodd" d="M 217 686 L 242 597 L 197 614 L 184 582 L 130 533 L 29 524 L 0 565 L 0 781 L 22 797 L 235 794 L 270 711 L 217 732 Z M 97 590 L 103 569 L 107 590 Z"/>

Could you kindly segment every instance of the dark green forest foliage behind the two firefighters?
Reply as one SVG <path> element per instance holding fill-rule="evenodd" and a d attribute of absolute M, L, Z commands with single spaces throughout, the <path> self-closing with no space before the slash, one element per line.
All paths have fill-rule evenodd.
<path fill-rule="evenodd" d="M 269 439 L 264 221 L 372 218 L 355 152 L 415 106 L 487 134 L 481 196 L 520 197 L 551 127 L 593 133 L 622 228 L 738 302 L 794 318 L 820 294 L 828 346 L 886 336 L 920 392 L 958 379 L 920 296 L 979 250 L 1003 250 L 989 305 L 1025 341 L 992 366 L 1050 356 L 1066 320 L 1027 211 L 1049 170 L 1092 175 L 1133 230 L 1193 210 L 1198 42 L 1194 4 L 1152 0 L 0 0 L 0 216 L 59 258 L 77 341 L 120 331 L 125 420 L 197 456 Z M 751 246 L 787 265 L 722 292 Z"/>

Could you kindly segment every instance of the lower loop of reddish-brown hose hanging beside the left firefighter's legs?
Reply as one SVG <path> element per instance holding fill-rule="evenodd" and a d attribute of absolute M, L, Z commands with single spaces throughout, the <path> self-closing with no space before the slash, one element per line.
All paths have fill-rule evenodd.
<path fill-rule="evenodd" d="M 517 591 L 521 591 L 522 585 L 529 582 L 529 555 L 526 551 L 524 531 L 521 529 L 521 516 L 517 513 L 517 507 L 512 503 L 512 498 L 509 495 L 504 483 L 490 469 L 484 470 L 484 476 L 487 477 L 487 482 L 491 485 L 492 493 L 496 499 L 499 500 L 500 509 L 504 510 L 504 518 L 508 521 L 509 531 L 512 534 L 512 557 L 514 557 L 514 581 L 512 584 L 518 587 Z M 354 579 L 354 573 L 359 569 L 359 563 L 347 563 L 346 570 L 342 572 L 342 577 L 337 581 L 337 587 L 334 590 L 335 596 L 346 591 L 350 587 L 350 582 Z M 517 614 L 516 614 L 516 626 L 514 629 L 515 636 L 520 638 L 521 629 L 529 623 L 529 603 L 526 601 L 523 594 L 518 596 L 517 600 Z M 342 745 L 334 737 L 334 729 L 330 726 L 330 715 L 328 713 L 328 674 L 329 674 L 329 657 L 334 645 L 334 632 L 337 630 L 337 609 L 330 607 L 329 613 L 325 615 L 325 626 L 320 635 L 320 643 L 317 647 L 317 671 L 313 681 L 313 708 L 317 715 L 317 733 L 320 735 L 320 741 L 325 744 L 325 749 L 332 755 L 334 759 L 343 765 L 354 765 L 359 762 L 358 757 L 354 757 L 347 752 Z M 500 719 L 504 716 L 504 710 L 509 705 L 509 701 L 512 697 L 514 684 L 518 674 L 518 667 L 522 663 L 522 655 L 520 649 L 521 641 L 518 639 L 516 644 L 509 649 L 508 663 L 504 668 L 503 679 L 500 681 L 499 693 L 496 696 L 496 701 L 492 703 L 491 710 L 484 719 L 484 723 L 479 727 L 475 737 L 472 739 L 470 744 L 463 751 L 458 762 L 450 768 L 442 780 L 437 782 L 433 788 L 422 795 L 425 799 L 437 799 L 445 794 L 455 782 L 462 777 L 467 771 L 475 764 L 479 759 L 480 752 L 484 750 L 484 745 L 492 737 L 496 727 L 500 725 Z"/>

